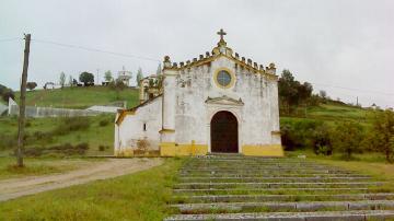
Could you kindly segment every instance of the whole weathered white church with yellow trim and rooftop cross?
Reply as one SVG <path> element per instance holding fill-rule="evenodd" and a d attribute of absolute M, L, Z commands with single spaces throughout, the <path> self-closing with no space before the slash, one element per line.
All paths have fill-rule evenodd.
<path fill-rule="evenodd" d="M 165 56 L 155 83 L 141 83 L 140 104 L 117 113 L 115 155 L 283 155 L 275 65 L 240 57 L 218 34 L 211 53 L 179 63 Z"/>

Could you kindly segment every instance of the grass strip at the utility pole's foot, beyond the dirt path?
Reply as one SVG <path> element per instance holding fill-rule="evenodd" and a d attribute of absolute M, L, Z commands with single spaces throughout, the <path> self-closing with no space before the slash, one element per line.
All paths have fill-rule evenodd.
<path fill-rule="evenodd" d="M 30 175 L 63 173 L 91 165 L 96 159 L 48 159 L 25 158 L 25 167 L 16 167 L 15 158 L 0 158 L 0 179 L 18 178 Z"/>

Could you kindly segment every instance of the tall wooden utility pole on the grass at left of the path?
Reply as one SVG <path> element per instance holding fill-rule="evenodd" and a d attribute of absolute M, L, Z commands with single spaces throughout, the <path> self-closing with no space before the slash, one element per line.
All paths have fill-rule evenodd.
<path fill-rule="evenodd" d="M 28 68 L 28 53 L 30 53 L 31 34 L 26 34 L 24 39 L 25 39 L 25 49 L 24 49 L 23 71 L 22 71 L 22 82 L 21 82 L 20 115 L 19 115 L 19 121 L 18 121 L 16 165 L 19 167 L 24 166 L 24 164 L 23 164 L 23 138 L 24 138 L 24 127 L 25 127 L 26 82 L 27 82 L 27 68 Z"/>

